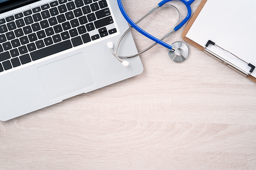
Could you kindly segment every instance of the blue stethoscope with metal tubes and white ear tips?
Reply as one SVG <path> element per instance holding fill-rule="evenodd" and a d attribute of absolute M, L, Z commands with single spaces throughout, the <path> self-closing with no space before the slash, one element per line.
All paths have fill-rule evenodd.
<path fill-rule="evenodd" d="M 171 45 L 168 45 L 166 43 L 164 43 L 162 40 L 164 40 L 165 38 L 169 37 L 170 35 L 172 35 L 174 32 L 178 31 L 185 23 L 187 23 L 187 21 L 190 19 L 191 17 L 191 14 L 192 14 L 192 11 L 191 11 L 191 4 L 195 1 L 195 0 L 190 0 L 190 1 L 186 1 L 186 0 L 179 0 L 181 1 L 182 3 L 185 4 L 185 6 L 187 7 L 188 9 L 188 15 L 187 17 L 180 23 L 180 24 L 177 24 L 177 26 L 172 30 L 170 31 L 169 33 L 167 33 L 166 35 L 164 35 L 161 39 L 157 39 L 155 38 L 154 36 L 148 34 L 147 32 L 145 32 L 144 30 L 142 30 L 140 27 L 137 26 L 137 24 L 139 22 L 141 22 L 143 19 L 145 19 L 147 16 L 149 16 L 150 14 L 152 14 L 154 11 L 156 11 L 159 7 L 163 7 L 166 3 L 170 2 L 170 1 L 173 1 L 173 0 L 163 0 L 161 1 L 155 8 L 153 8 L 152 10 L 150 10 L 145 16 L 143 16 L 141 19 L 139 19 L 137 22 L 133 22 L 129 17 L 128 15 L 126 14 L 125 10 L 124 10 L 124 7 L 122 5 L 122 1 L 121 0 L 117 0 L 118 2 L 118 6 L 119 6 L 119 9 L 122 13 L 122 15 L 124 16 L 125 20 L 130 24 L 130 28 L 127 29 L 127 31 L 121 36 L 121 38 L 119 39 L 117 45 L 116 45 L 116 49 L 115 49 L 115 53 L 113 51 L 113 48 L 114 48 L 114 45 L 112 42 L 109 42 L 107 45 L 108 45 L 108 48 L 111 50 L 111 53 L 123 64 L 123 66 L 127 67 L 129 65 L 129 62 L 128 61 L 125 61 L 125 60 L 121 60 L 121 59 L 128 59 L 128 58 L 132 58 L 132 57 L 135 57 L 135 56 L 138 56 L 146 51 L 148 51 L 149 49 L 151 49 L 152 47 L 154 47 L 156 44 L 160 44 L 161 46 L 165 47 L 168 49 L 168 55 L 169 57 L 175 61 L 175 62 L 182 62 L 182 61 L 185 61 L 187 58 L 188 58 L 188 55 L 189 55 L 189 48 L 188 46 L 183 43 L 183 42 L 175 42 Z M 171 6 L 173 8 L 175 8 L 178 13 L 179 13 L 179 21 L 180 21 L 180 11 L 173 5 L 165 5 L 165 6 Z M 178 23 L 179 23 L 178 21 Z M 145 37 L 151 39 L 152 41 L 154 41 L 155 43 L 152 44 L 151 46 L 149 46 L 148 48 L 146 48 L 145 50 L 137 53 L 137 54 L 134 54 L 134 55 L 131 55 L 131 56 L 118 56 L 118 48 L 120 46 L 120 43 L 121 41 L 123 40 L 123 38 L 125 37 L 125 35 L 132 29 L 134 28 L 136 31 L 138 31 L 140 34 L 144 35 Z"/>

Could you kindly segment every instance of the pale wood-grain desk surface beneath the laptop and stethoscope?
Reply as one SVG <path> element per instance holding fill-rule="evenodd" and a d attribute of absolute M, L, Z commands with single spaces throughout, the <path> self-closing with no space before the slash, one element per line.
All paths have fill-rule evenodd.
<path fill-rule="evenodd" d="M 133 20 L 158 2 L 123 0 Z M 166 10 L 140 26 L 161 37 L 177 16 Z M 138 50 L 152 43 L 132 34 Z M 157 46 L 139 76 L 0 122 L 0 168 L 254 169 L 256 84 L 188 46 L 184 63 Z"/>

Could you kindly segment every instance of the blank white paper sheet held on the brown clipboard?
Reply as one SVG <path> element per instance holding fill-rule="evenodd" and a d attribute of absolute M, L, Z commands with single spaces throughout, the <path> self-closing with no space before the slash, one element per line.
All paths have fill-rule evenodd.
<path fill-rule="evenodd" d="M 187 38 L 205 47 L 208 40 L 256 66 L 256 1 L 208 0 Z M 207 48 L 249 72 L 250 67 L 222 49 Z M 256 69 L 251 74 L 256 77 Z"/>

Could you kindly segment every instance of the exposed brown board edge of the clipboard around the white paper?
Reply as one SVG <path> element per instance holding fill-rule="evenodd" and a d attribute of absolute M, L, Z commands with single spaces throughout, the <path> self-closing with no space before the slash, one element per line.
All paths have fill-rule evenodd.
<path fill-rule="evenodd" d="M 192 27 L 192 25 L 194 24 L 194 22 L 196 21 L 198 15 L 200 14 L 200 12 L 202 11 L 204 5 L 206 4 L 207 0 L 202 0 L 202 2 L 200 3 L 200 5 L 198 6 L 196 12 L 194 13 L 194 15 L 192 16 L 192 18 L 190 19 L 188 25 L 186 26 L 186 28 L 184 29 L 183 33 L 182 33 L 182 38 L 184 41 L 188 42 L 189 44 L 191 44 L 192 46 L 198 48 L 201 51 L 204 51 L 204 47 L 200 46 L 199 44 L 195 43 L 194 41 L 190 40 L 189 38 L 187 38 L 187 34 L 190 30 L 190 28 Z M 253 81 L 254 83 L 256 83 L 256 78 L 249 75 L 246 78 L 250 79 L 251 81 Z"/>

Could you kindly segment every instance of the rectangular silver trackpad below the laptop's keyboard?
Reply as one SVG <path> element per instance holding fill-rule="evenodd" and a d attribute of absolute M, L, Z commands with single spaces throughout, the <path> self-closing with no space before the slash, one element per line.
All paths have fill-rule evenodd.
<path fill-rule="evenodd" d="M 94 85 L 83 53 L 38 67 L 50 100 Z"/>

